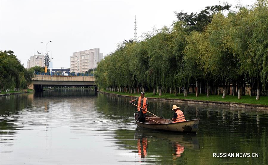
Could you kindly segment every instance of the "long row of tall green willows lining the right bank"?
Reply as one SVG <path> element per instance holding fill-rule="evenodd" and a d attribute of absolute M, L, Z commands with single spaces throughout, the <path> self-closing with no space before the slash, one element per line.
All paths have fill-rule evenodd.
<path fill-rule="evenodd" d="M 98 63 L 96 81 L 100 87 L 128 90 L 169 88 L 177 95 L 184 87 L 200 86 L 207 97 L 222 98 L 232 84 L 233 95 L 250 95 L 256 100 L 267 91 L 268 81 L 268 2 L 257 1 L 251 8 L 238 7 L 227 16 L 230 5 L 206 7 L 196 13 L 175 12 L 178 21 L 143 35 L 139 42 L 124 41 Z M 229 88 L 228 88 L 229 87 Z M 238 90 L 236 90 L 238 89 Z M 241 90 L 242 89 L 242 90 Z"/>

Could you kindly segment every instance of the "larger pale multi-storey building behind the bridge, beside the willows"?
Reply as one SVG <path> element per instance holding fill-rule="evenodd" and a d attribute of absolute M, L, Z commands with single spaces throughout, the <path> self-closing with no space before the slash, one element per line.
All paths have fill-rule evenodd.
<path fill-rule="evenodd" d="M 99 48 L 89 49 L 73 53 L 71 56 L 71 72 L 85 73 L 89 69 L 97 67 L 103 59 L 103 53 Z"/>

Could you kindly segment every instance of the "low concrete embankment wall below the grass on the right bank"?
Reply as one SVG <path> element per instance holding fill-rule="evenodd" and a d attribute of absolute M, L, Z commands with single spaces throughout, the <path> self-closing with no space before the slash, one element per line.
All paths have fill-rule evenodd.
<path fill-rule="evenodd" d="M 105 95 L 112 95 L 117 97 L 124 98 L 137 98 L 137 96 L 128 96 L 128 95 L 118 95 L 114 93 L 108 93 L 99 91 Z M 147 97 L 146 97 L 147 98 Z M 232 103 L 232 102 L 222 102 L 222 101 L 207 101 L 207 100 L 190 100 L 190 99 L 170 99 L 170 98 L 148 98 L 150 100 L 174 102 L 174 103 L 186 103 L 186 104 L 202 104 L 202 105 L 212 105 L 212 106 L 229 106 L 229 107 L 238 107 L 248 110 L 258 110 L 268 112 L 268 105 L 260 104 L 246 104 L 246 103 Z"/>

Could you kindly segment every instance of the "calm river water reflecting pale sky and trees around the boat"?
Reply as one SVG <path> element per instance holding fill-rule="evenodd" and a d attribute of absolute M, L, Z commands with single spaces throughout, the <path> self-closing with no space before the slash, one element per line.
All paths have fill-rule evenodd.
<path fill-rule="evenodd" d="M 186 120 L 200 118 L 198 133 L 156 132 L 137 128 L 129 100 L 88 89 L 2 96 L 0 164 L 268 163 L 267 112 L 177 104 Z M 174 103 L 148 101 L 157 116 L 173 116 Z"/>

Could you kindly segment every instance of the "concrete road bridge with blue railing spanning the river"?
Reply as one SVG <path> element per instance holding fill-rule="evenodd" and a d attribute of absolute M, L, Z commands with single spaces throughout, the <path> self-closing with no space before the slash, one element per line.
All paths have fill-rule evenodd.
<path fill-rule="evenodd" d="M 97 86 L 95 85 L 95 77 L 91 76 L 47 76 L 35 75 L 32 78 L 32 84 L 28 86 L 29 89 L 35 91 L 43 91 L 43 86 Z"/>

